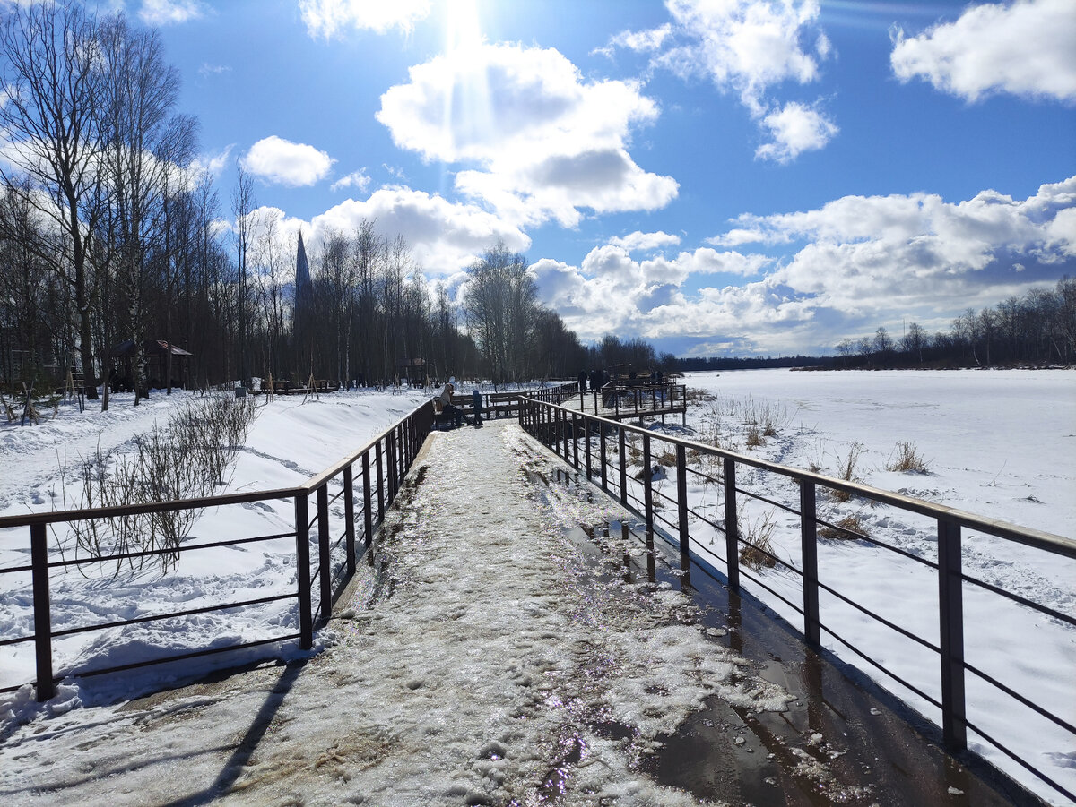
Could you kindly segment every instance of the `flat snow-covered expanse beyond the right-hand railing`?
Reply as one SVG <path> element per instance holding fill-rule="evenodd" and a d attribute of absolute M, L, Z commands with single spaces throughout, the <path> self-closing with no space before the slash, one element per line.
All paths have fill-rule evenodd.
<path fill-rule="evenodd" d="M 670 424 L 671 434 L 702 437 L 783 465 L 816 466 L 835 476 L 854 444 L 861 453 L 853 476 L 874 487 L 1068 538 L 1076 535 L 1076 372 L 775 370 L 691 374 L 685 383 L 708 394 L 689 409 L 688 434 L 679 424 Z M 763 409 L 776 416 L 777 434 L 762 446 L 748 448 L 748 413 L 758 416 Z M 928 473 L 886 470 L 900 442 L 914 444 L 928 462 Z M 741 474 L 740 487 L 798 506 L 796 488 L 779 477 L 751 471 Z M 660 486 L 672 495 L 675 484 L 670 472 Z M 717 486 L 689 476 L 689 498 L 693 508 L 722 521 Z M 740 508 L 741 528 L 748 532 L 758 532 L 770 509 L 746 499 Z M 675 510 L 664 515 L 676 520 Z M 872 537 L 936 559 L 936 528 L 926 519 L 854 499 L 840 503 L 824 496 L 819 515 L 831 522 L 855 515 Z M 769 517 L 775 522 L 770 534 L 775 553 L 798 566 L 798 519 L 779 510 Z M 692 533 L 702 538 L 703 546 L 697 548 L 723 559 L 723 535 L 698 522 Z M 963 563 L 965 574 L 1076 615 L 1076 562 L 972 533 L 965 535 Z M 723 568 L 724 561 L 714 565 Z M 937 644 L 933 570 L 865 542 L 836 539 L 821 542 L 819 568 L 823 582 Z M 791 572 L 778 568 L 756 574 L 792 602 L 799 602 L 799 580 Z M 801 617 L 777 597 L 752 588 L 750 581 L 746 585 L 799 624 Z M 823 625 L 939 697 L 936 654 L 872 623 L 824 592 L 821 616 Z M 1076 722 L 1076 630 L 966 585 L 964 617 L 969 663 L 1062 719 Z M 823 644 L 878 677 L 923 715 L 939 719 L 934 707 L 876 673 L 824 631 Z M 967 704 L 969 720 L 1076 791 L 1076 738 L 973 675 L 967 677 Z M 1065 802 L 974 733 L 969 745 L 1044 797 Z"/>

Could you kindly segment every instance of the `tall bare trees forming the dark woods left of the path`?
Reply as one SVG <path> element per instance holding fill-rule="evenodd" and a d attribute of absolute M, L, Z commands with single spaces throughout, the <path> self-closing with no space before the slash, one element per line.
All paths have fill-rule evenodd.
<path fill-rule="evenodd" d="M 537 302 L 522 255 L 502 244 L 470 266 L 457 300 L 430 287 L 399 235 L 363 221 L 330 232 L 310 258 L 258 208 L 240 167 L 223 211 L 197 160 L 198 121 L 176 110 L 178 71 L 159 34 L 122 14 L 34 3 L 0 21 L 0 378 L 62 384 L 81 371 L 108 408 L 123 378 L 136 405 L 171 362 L 187 386 L 313 375 L 340 385 L 449 375 L 509 383 L 574 378 L 615 363 L 655 368 L 641 340 L 585 346 Z M 228 219 L 225 219 L 225 215 Z M 233 224 L 229 224 L 233 221 Z M 296 271 L 309 277 L 297 296 Z M 145 345 L 164 341 L 164 378 Z M 116 370 L 114 370 L 114 366 Z"/>

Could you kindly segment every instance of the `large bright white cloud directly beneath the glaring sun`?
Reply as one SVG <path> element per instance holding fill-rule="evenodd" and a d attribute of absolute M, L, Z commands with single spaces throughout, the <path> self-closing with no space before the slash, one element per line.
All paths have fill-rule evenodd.
<path fill-rule="evenodd" d="M 586 82 L 553 48 L 482 44 L 411 68 L 377 117 L 426 160 L 477 164 L 456 188 L 502 217 L 570 227 L 580 208 L 656 210 L 676 197 L 676 181 L 627 152 L 632 128 L 657 114 L 636 84 Z"/>

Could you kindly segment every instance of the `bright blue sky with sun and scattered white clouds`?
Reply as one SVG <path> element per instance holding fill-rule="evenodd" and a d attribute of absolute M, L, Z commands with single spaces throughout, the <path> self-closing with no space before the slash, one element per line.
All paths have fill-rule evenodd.
<path fill-rule="evenodd" d="M 223 207 L 498 239 L 584 340 L 830 351 L 1076 268 L 1076 3 L 128 0 Z"/>

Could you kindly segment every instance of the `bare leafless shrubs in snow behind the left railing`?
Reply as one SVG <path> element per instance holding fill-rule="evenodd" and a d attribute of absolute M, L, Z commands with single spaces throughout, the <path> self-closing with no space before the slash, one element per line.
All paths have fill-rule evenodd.
<path fill-rule="evenodd" d="M 136 435 L 132 452 L 98 450 L 85 460 L 80 469 L 82 494 L 74 506 L 88 509 L 211 495 L 224 484 L 256 412 L 253 400 L 227 397 L 182 405 L 166 426 L 155 423 Z M 148 560 L 167 572 L 179 561 L 176 550 L 199 515 L 189 509 L 74 521 L 75 552 L 114 559 L 118 574 L 122 556 L 166 550 L 127 562 L 142 567 Z"/>

